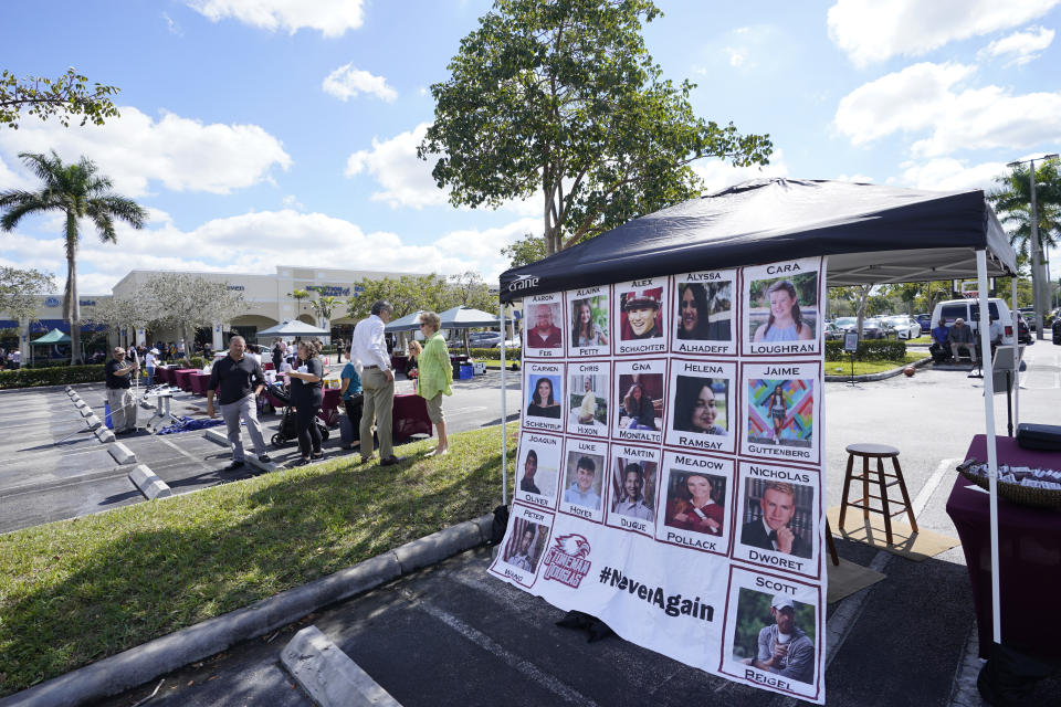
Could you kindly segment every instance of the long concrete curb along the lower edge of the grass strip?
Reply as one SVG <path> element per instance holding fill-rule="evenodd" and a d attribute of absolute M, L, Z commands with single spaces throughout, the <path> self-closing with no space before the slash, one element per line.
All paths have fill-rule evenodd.
<path fill-rule="evenodd" d="M 422 559 L 421 553 L 426 551 L 419 549 L 413 552 L 411 546 L 426 542 L 434 549 L 440 560 L 479 547 L 490 539 L 493 521 L 493 514 L 489 514 L 432 532 L 308 584 L 288 589 L 250 606 L 209 619 L 9 695 L 0 699 L 0 707 L 76 707 L 143 685 L 159 675 L 207 658 L 237 643 L 265 635 L 328 604 L 376 589 L 412 571 L 402 567 L 398 560 L 399 552 L 407 555 L 411 567 L 416 563 L 414 558 Z M 472 540 L 474 542 L 469 545 Z"/>

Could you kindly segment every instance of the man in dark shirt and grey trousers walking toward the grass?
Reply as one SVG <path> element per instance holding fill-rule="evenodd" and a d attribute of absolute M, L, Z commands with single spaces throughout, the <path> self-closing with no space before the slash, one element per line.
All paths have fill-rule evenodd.
<path fill-rule="evenodd" d="M 246 341 L 243 337 L 232 337 L 229 341 L 229 355 L 214 361 L 210 383 L 207 386 L 207 414 L 217 416 L 213 409 L 213 395 L 217 392 L 221 418 L 228 429 L 229 444 L 232 445 L 232 463 L 224 467 L 227 472 L 238 469 L 244 464 L 243 440 L 240 436 L 241 418 L 251 434 L 258 461 L 270 461 L 265 453 L 262 425 L 258 422 L 258 405 L 254 403 L 254 397 L 265 387 L 265 377 L 258 361 L 244 356 L 244 351 Z"/>

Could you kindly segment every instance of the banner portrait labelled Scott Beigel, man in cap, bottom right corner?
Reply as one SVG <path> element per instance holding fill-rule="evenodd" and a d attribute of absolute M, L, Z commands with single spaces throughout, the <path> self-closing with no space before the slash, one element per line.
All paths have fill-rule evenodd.
<path fill-rule="evenodd" d="M 722 673 L 820 701 L 821 590 L 733 567 L 729 597 Z"/>

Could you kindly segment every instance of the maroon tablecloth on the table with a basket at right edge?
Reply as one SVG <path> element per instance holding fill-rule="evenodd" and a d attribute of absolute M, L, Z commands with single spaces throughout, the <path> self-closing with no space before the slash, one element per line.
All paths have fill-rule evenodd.
<path fill-rule="evenodd" d="M 997 437 L 998 463 L 1061 469 L 1061 453 L 1022 450 L 1012 437 Z M 966 458 L 987 460 L 987 437 L 973 437 Z M 947 499 L 965 550 L 980 639 L 980 657 L 988 657 L 991 622 L 990 497 L 957 477 Z M 1036 657 L 1061 658 L 1053 635 L 1049 599 L 1061 587 L 1061 511 L 1031 508 L 998 499 L 999 599 L 1002 642 Z"/>

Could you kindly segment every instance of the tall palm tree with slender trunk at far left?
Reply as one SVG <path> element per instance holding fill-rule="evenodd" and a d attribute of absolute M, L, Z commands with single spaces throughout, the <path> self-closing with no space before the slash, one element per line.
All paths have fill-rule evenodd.
<path fill-rule="evenodd" d="M 143 229 L 147 211 L 132 199 L 111 191 L 111 179 L 96 173 L 95 163 L 82 157 L 76 165 L 64 165 L 55 150 L 51 156 L 19 152 L 36 177 L 44 182 L 40 191 L 10 189 L 0 192 L 0 229 L 11 231 L 22 217 L 45 211 L 66 214 L 66 289 L 63 292 L 63 316 L 70 323 L 70 362 L 81 362 L 81 302 L 77 298 L 77 242 L 81 240 L 78 219 L 91 219 L 104 243 L 117 242 L 115 219 L 134 229 Z"/>

